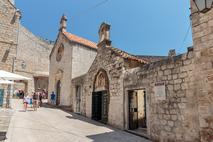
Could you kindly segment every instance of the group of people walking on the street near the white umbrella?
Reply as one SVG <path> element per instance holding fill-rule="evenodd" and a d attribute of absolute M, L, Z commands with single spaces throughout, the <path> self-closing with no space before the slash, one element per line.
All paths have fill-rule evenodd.
<path fill-rule="evenodd" d="M 37 111 L 37 108 L 42 106 L 42 99 L 43 99 L 42 92 L 32 92 L 31 95 L 24 96 L 23 98 L 24 110 L 26 111 L 29 105 L 33 107 L 34 111 Z"/>

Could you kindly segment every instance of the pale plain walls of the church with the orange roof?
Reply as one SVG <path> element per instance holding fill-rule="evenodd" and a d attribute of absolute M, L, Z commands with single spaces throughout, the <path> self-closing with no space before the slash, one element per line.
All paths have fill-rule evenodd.
<path fill-rule="evenodd" d="M 56 61 L 56 53 L 58 47 L 64 44 L 64 55 L 60 62 Z M 93 63 L 97 51 L 90 49 L 84 45 L 70 42 L 63 35 L 59 36 L 56 48 L 50 59 L 50 76 L 49 76 L 49 95 L 52 91 L 56 92 L 56 73 L 63 70 L 63 77 L 61 79 L 61 97 L 60 105 L 73 106 L 71 97 L 74 91 L 71 90 L 71 81 L 73 78 L 86 74 L 91 64 Z M 49 96 L 50 99 L 50 96 Z M 50 102 L 50 100 L 49 100 Z"/>

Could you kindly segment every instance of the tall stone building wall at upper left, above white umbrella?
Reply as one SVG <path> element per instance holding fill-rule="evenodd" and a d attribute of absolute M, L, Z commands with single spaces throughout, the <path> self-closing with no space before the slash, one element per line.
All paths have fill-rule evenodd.
<path fill-rule="evenodd" d="M 0 69 L 13 70 L 20 13 L 8 1 L 0 1 Z"/>

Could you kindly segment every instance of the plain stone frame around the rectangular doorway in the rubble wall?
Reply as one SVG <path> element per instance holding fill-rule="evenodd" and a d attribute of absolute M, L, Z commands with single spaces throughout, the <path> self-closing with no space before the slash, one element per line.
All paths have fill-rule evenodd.
<path fill-rule="evenodd" d="M 150 100 L 148 97 L 149 92 L 147 92 L 146 88 L 143 87 L 126 87 L 124 88 L 124 129 L 129 130 L 129 91 L 132 90 L 145 90 L 146 91 L 146 121 L 147 121 L 147 134 L 150 136 L 150 111 L 149 111 L 149 104 Z"/>

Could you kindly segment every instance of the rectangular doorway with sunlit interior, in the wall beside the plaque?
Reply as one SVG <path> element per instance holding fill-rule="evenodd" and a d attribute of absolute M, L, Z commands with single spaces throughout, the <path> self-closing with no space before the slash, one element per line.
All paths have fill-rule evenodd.
<path fill-rule="evenodd" d="M 129 98 L 129 129 L 146 131 L 146 92 L 145 90 L 128 91 Z"/>

